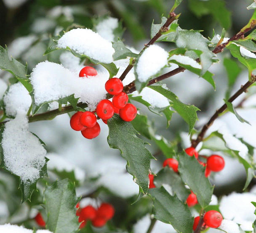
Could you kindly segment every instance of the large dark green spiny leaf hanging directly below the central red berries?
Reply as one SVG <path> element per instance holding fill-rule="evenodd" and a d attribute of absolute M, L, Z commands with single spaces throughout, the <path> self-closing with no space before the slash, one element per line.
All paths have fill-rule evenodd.
<path fill-rule="evenodd" d="M 147 143 L 136 136 L 137 132 L 131 122 L 123 121 L 117 114 L 109 119 L 107 124 L 109 146 L 120 150 L 121 156 L 127 160 L 127 171 L 133 175 L 142 193 L 146 194 L 149 185 L 150 160 L 154 159 L 145 147 Z"/>

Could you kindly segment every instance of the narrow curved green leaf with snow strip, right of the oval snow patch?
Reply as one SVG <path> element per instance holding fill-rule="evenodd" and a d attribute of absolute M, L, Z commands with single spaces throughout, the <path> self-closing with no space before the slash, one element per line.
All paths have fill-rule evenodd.
<path fill-rule="evenodd" d="M 191 60 L 188 61 L 189 59 L 191 59 Z M 206 71 L 203 75 L 201 75 L 201 69 L 195 68 L 194 66 L 192 66 L 193 61 L 196 62 L 192 58 L 189 58 L 187 56 L 181 56 L 181 55 L 173 55 L 169 58 L 169 62 L 177 64 L 181 67 L 184 67 L 185 69 L 187 69 L 187 70 L 199 75 L 199 77 L 202 77 L 203 79 L 205 79 L 207 82 L 209 82 L 213 86 L 213 89 L 215 90 L 216 85 L 215 85 L 215 81 L 213 80 L 213 74 L 209 71 Z"/>

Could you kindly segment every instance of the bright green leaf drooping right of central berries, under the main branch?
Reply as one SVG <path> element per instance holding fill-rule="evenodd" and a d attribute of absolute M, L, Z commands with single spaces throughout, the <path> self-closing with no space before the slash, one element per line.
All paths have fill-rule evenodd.
<path fill-rule="evenodd" d="M 165 89 L 161 85 L 150 85 L 149 88 L 159 92 L 172 103 L 172 108 L 189 124 L 189 134 L 192 132 L 195 122 L 198 120 L 197 111 L 199 110 L 194 105 L 187 105 L 179 101 L 179 98 L 170 90 Z"/>

